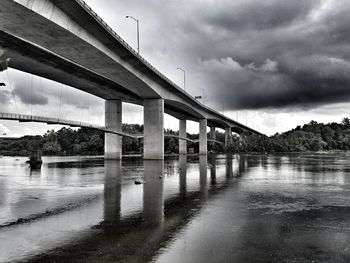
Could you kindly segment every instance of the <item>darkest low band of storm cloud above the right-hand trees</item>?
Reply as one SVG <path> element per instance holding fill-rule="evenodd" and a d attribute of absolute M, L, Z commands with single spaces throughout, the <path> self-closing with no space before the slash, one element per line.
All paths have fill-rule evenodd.
<path fill-rule="evenodd" d="M 204 62 L 207 83 L 216 85 L 216 104 L 232 109 L 296 106 L 310 108 L 350 98 L 350 64 L 341 59 L 305 57 L 286 67 L 267 60 L 260 67 L 241 66 L 232 58 Z M 234 64 L 236 63 L 236 64 Z M 215 69 L 215 70 L 214 70 Z M 219 85 L 218 85 L 219 84 Z"/>

